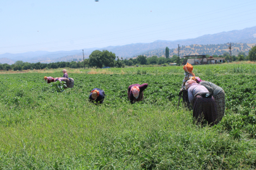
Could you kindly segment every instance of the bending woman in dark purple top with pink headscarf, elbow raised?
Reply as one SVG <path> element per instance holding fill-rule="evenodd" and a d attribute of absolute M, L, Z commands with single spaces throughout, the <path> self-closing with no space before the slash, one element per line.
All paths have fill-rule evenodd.
<path fill-rule="evenodd" d="M 128 99 L 130 100 L 131 104 L 135 103 L 136 101 L 143 100 L 143 91 L 147 88 L 149 84 L 144 83 L 140 84 L 131 84 L 128 88 Z"/>

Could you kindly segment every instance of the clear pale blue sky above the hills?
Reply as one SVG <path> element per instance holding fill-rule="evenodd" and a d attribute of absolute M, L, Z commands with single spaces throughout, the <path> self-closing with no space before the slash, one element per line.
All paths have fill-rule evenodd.
<path fill-rule="evenodd" d="M 182 40 L 252 26 L 255 0 L 1 0 L 0 54 Z"/>

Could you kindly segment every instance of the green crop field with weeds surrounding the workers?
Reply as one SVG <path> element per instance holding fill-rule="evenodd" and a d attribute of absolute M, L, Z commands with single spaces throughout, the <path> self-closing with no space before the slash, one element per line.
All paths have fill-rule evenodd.
<path fill-rule="evenodd" d="M 226 115 L 193 124 L 178 105 L 182 67 L 68 70 L 73 89 L 44 76 L 61 70 L 0 74 L 0 169 L 255 169 L 256 65 L 196 65 L 226 93 Z M 149 83 L 131 105 L 130 84 Z M 101 106 L 89 103 L 104 89 Z"/>

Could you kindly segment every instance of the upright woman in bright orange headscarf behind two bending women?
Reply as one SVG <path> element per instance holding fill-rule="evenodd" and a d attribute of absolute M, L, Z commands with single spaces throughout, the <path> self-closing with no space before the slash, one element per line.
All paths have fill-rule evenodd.
<path fill-rule="evenodd" d="M 181 93 L 183 93 L 183 103 L 185 103 L 186 107 L 188 108 L 191 108 L 190 107 L 190 102 L 188 100 L 188 91 L 186 91 L 185 89 L 185 84 L 186 84 L 186 81 L 188 81 L 190 79 L 190 77 L 195 77 L 195 74 L 193 74 L 193 65 L 189 64 L 189 63 L 186 63 L 186 65 L 183 66 L 183 69 L 185 71 L 184 75 L 184 79 L 183 79 L 183 82 L 182 82 L 182 86 L 181 86 L 181 89 L 180 89 L 180 93 L 179 93 L 179 96 L 181 96 Z"/>

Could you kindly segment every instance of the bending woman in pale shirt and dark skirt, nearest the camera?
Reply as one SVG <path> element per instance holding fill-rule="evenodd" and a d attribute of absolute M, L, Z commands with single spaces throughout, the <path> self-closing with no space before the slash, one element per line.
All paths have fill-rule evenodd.
<path fill-rule="evenodd" d="M 216 125 L 217 105 L 207 88 L 190 79 L 186 81 L 185 89 L 188 90 L 188 99 L 193 106 L 195 121 L 202 123 L 204 118 L 209 125 Z"/>

